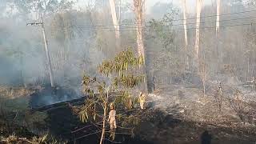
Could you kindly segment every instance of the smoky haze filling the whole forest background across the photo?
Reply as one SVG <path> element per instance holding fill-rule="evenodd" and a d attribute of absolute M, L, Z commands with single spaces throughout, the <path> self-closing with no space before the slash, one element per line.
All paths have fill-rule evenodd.
<path fill-rule="evenodd" d="M 49 83 L 42 29 L 40 26 L 26 26 L 28 22 L 38 22 L 37 9 L 33 8 L 33 2 L 30 5 L 13 2 L 18 1 L 1 1 L 0 3 L 0 84 Z M 130 10 L 131 4 L 127 2 L 122 2 L 122 23 L 134 22 L 134 14 Z M 148 31 L 145 32 L 144 41 L 148 58 L 150 58 L 148 61 L 150 73 L 159 74 L 159 79 L 166 78 L 166 74 L 169 74 L 168 77 L 173 77 L 184 70 L 182 21 L 173 22 L 173 19 L 182 19 L 181 5 L 178 2 L 171 3 L 166 0 L 146 2 L 145 29 Z M 194 18 L 194 4 L 193 1 L 187 3 L 190 9 L 188 18 Z M 44 19 L 50 58 L 54 68 L 54 81 L 58 85 L 78 85 L 84 71 L 95 74 L 94 70 L 103 59 L 113 58 L 117 51 L 129 46 L 136 47 L 135 29 L 132 25 L 121 26 L 122 48 L 118 50 L 114 48 L 114 29 L 111 27 L 109 2 L 98 0 L 86 3 L 80 0 L 74 3 L 73 7 L 62 6 L 63 10 L 52 13 L 54 6 L 55 4 Z M 216 14 L 215 6 L 214 1 L 204 2 L 202 16 Z M 82 10 L 80 11 L 78 7 Z M 225 0 L 222 1 L 221 14 L 254 9 L 246 5 L 246 2 Z M 223 27 L 220 29 L 218 41 L 220 59 L 214 55 L 217 50 L 215 18 L 201 19 L 200 47 L 201 53 L 205 54 L 210 78 L 219 77 L 216 74 L 222 70 L 224 65 L 233 66 L 234 70 L 237 70 L 236 74 L 241 78 L 252 76 L 255 73 L 255 44 L 251 38 L 255 29 L 254 15 L 255 12 L 248 12 L 221 17 L 220 24 Z M 246 17 L 249 18 L 241 19 Z M 151 18 L 156 20 L 151 21 Z M 190 23 L 188 25 L 189 50 L 192 58 L 195 19 L 190 19 L 188 22 Z M 203 27 L 211 28 L 204 29 Z M 155 32 L 156 30 L 158 33 Z M 249 53 L 245 53 L 245 50 Z M 217 59 L 221 64 L 216 63 Z M 192 62 L 191 65 L 193 65 Z"/>

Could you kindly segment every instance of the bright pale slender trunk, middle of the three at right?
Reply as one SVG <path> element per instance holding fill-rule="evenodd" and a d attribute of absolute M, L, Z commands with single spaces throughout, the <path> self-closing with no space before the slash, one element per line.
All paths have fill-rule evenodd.
<path fill-rule="evenodd" d="M 197 20 L 196 20 L 196 31 L 195 31 L 195 58 L 197 61 L 197 68 L 199 70 L 199 45 L 200 45 L 200 20 L 201 20 L 201 10 L 202 10 L 202 0 L 197 0 Z"/>

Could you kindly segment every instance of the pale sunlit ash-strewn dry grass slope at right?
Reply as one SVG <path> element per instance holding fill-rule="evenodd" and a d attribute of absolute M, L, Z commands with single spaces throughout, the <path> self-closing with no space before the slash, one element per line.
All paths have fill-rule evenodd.
<path fill-rule="evenodd" d="M 181 92 L 182 91 L 182 92 Z M 150 101 L 154 106 L 158 106 L 166 113 L 178 113 L 182 119 L 191 122 L 209 123 L 218 126 L 254 126 L 249 118 L 249 112 L 255 110 L 256 106 L 251 106 L 248 102 L 240 102 L 244 113 L 241 118 L 241 108 L 237 110 L 238 102 L 235 102 L 233 93 L 230 90 L 223 92 L 222 106 L 220 108 L 218 100 L 214 94 L 216 90 L 208 89 L 203 96 L 202 90 L 198 88 L 183 88 L 179 86 L 162 90 L 158 93 L 158 98 L 151 97 Z M 176 106 L 177 105 L 177 106 Z M 178 108 L 177 108 L 178 107 Z M 177 109 L 174 111 L 174 109 Z M 173 112 L 174 111 L 174 112 Z M 247 114 L 248 113 L 248 114 Z"/>

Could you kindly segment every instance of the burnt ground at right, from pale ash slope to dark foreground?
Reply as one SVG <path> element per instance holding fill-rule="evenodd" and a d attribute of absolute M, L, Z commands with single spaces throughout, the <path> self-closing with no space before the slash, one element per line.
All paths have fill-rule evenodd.
<path fill-rule="evenodd" d="M 172 85 L 149 94 L 148 102 L 155 110 L 162 111 L 159 123 L 146 129 L 155 143 L 200 143 L 207 131 L 212 143 L 254 143 L 256 119 L 254 91 L 239 87 L 222 86 L 222 106 L 219 107 L 218 86 L 202 89 Z M 240 107 L 240 109 L 239 109 Z M 153 121 L 154 122 L 154 121 Z M 145 126 L 146 127 L 146 126 Z M 149 133 L 154 129 L 154 132 Z"/>

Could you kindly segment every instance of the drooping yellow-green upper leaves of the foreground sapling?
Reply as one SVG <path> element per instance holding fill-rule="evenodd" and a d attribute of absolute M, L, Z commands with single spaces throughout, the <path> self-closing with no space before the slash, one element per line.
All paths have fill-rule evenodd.
<path fill-rule="evenodd" d="M 132 50 L 125 50 L 117 54 L 114 60 L 102 62 L 102 64 L 98 66 L 98 70 L 100 74 L 106 77 L 109 77 L 110 74 L 112 77 L 114 76 L 112 82 L 110 82 L 110 90 L 116 91 L 118 88 L 134 88 L 134 86 L 145 82 L 144 75 L 134 75 L 134 73 L 136 73 L 136 66 L 139 67 L 143 64 L 144 60 L 142 56 L 137 58 L 134 56 Z M 99 94 L 103 94 L 106 91 L 106 83 L 102 82 L 102 84 L 100 84 L 96 78 L 90 78 L 87 75 L 84 75 L 82 84 L 84 92 L 90 94 L 91 97 L 94 96 L 93 84 L 97 85 L 96 87 Z"/>

